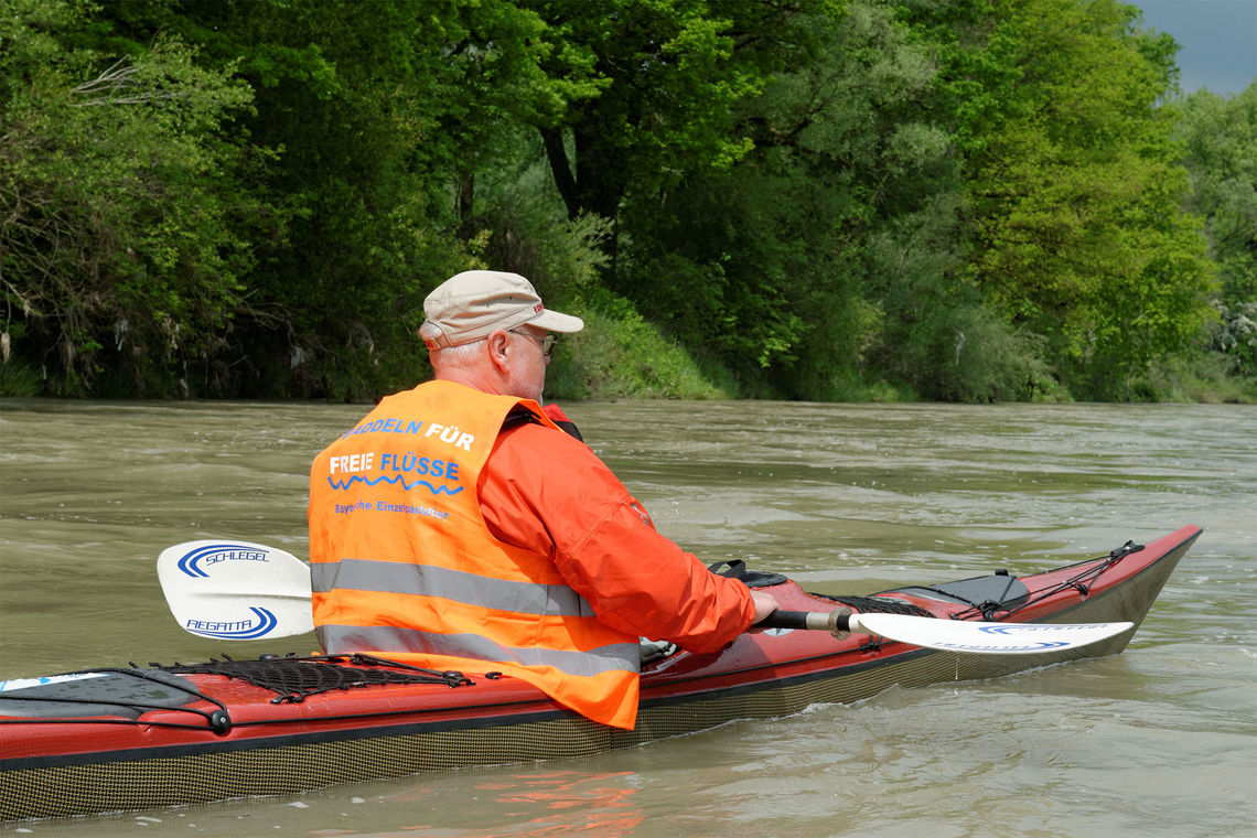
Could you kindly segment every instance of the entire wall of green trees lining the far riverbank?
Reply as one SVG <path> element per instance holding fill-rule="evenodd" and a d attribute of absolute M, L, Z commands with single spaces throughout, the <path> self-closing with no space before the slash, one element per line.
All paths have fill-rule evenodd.
<path fill-rule="evenodd" d="M 376 397 L 489 266 L 590 323 L 559 397 L 1242 398 L 1257 85 L 1175 49 L 1115 0 L 10 0 L 0 392 Z"/>

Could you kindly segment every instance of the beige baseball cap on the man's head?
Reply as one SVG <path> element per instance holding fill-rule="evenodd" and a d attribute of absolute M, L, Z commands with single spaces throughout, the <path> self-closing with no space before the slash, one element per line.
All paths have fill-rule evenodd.
<path fill-rule="evenodd" d="M 533 284 L 519 274 L 465 270 L 424 300 L 424 344 L 444 349 L 488 337 L 495 329 L 528 325 L 547 332 L 579 332 L 585 320 L 551 312 Z"/>

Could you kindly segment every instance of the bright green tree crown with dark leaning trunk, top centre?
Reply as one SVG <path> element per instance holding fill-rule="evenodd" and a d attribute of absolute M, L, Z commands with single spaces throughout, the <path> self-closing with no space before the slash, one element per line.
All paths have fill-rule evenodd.
<path fill-rule="evenodd" d="M 747 54 L 817 0 L 528 3 L 547 24 L 542 67 L 585 84 L 535 124 L 568 215 L 618 215 L 628 193 L 728 168 L 750 148 L 733 108 L 759 89 Z"/>

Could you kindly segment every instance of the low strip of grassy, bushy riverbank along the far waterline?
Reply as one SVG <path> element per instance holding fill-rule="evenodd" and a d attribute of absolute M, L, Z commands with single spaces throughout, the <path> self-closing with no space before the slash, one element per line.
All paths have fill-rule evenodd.
<path fill-rule="evenodd" d="M 1173 402 L 1257 403 L 1257 379 L 1236 376 L 1231 361 L 1219 353 L 1200 352 L 1193 358 L 1170 358 L 1150 364 L 1143 376 L 1110 387 L 1109 395 L 1071 392 L 1067 384 L 1047 373 L 1047 364 L 1033 358 L 996 357 L 1004 346 L 985 347 L 975 339 L 967 352 L 982 356 L 983 363 L 954 374 L 962 381 L 950 388 L 954 398 L 931 397 L 906 383 L 903 376 L 871 364 L 826 371 L 812 377 L 807 392 L 783 392 L 771 382 L 768 369 L 748 364 L 733 369 L 714 352 L 686 348 L 657 325 L 649 323 L 627 302 L 598 295 L 596 303 L 573 300 L 563 310 L 578 314 L 586 329 L 564 335 L 547 373 L 547 398 L 562 402 L 615 398 L 665 400 L 778 400 L 810 402 Z M 949 349 L 950 351 L 950 349 Z M 959 352 L 957 352 L 959 358 Z M 261 398 L 371 402 L 405 389 L 431 376 L 427 356 L 415 340 L 405 351 L 368 353 L 361 358 L 321 357 L 294 352 L 289 363 L 266 363 L 243 358 L 256 369 L 258 381 L 243 392 L 216 391 L 215 373 L 184 361 L 168 366 L 163 376 L 143 381 L 121 372 L 102 374 L 91 387 L 57 378 L 16 357 L 0 364 L 0 397 L 74 396 L 96 398 Z M 959 364 L 958 364 L 959 366 Z M 1028 382 L 1011 386 L 1014 373 L 1024 369 Z M 992 372 L 992 368 L 997 368 Z"/>

